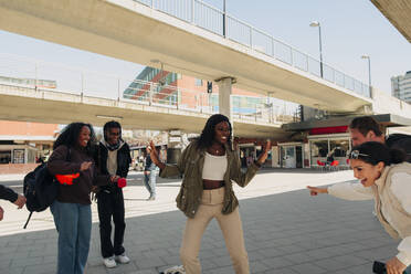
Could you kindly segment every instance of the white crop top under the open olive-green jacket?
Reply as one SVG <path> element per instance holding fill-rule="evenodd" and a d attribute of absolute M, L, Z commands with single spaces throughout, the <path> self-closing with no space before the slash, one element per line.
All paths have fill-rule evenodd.
<path fill-rule="evenodd" d="M 224 180 L 226 165 L 226 154 L 223 156 L 214 156 L 205 151 L 202 179 L 213 181 Z"/>

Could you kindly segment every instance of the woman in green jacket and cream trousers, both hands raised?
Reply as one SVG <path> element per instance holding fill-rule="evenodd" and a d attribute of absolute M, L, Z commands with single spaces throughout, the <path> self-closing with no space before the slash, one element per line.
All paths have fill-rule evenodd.
<path fill-rule="evenodd" d="M 182 236 L 180 259 L 188 274 L 201 273 L 198 259 L 202 234 L 215 218 L 223 233 L 235 273 L 250 273 L 239 201 L 232 181 L 245 187 L 264 164 L 271 143 L 245 172 L 241 170 L 238 151 L 231 148 L 232 128 L 228 117 L 212 115 L 201 136 L 182 151 L 177 165 L 158 159 L 151 141 L 151 159 L 160 168 L 160 177 L 183 176 L 177 207 L 188 217 Z"/>

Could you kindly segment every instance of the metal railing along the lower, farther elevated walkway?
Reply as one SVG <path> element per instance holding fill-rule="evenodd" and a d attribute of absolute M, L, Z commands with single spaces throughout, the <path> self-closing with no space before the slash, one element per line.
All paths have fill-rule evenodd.
<path fill-rule="evenodd" d="M 137 74 L 137 72 L 136 72 Z M 108 98 L 148 106 L 167 107 L 194 113 L 218 113 L 218 95 L 203 91 L 192 91 L 173 85 L 127 80 L 115 75 L 84 71 L 66 65 L 33 61 L 10 54 L 0 54 L 0 86 L 2 91 L 36 91 L 75 94 L 97 98 Z M 231 95 L 232 98 L 240 95 Z M 41 96 L 39 96 L 41 97 Z M 232 104 L 233 117 L 243 120 L 277 124 L 288 122 L 295 113 L 296 104 L 278 101 L 277 105 L 253 103 Z M 233 99 L 232 99 L 233 101 Z M 270 98 L 259 97 L 260 102 Z"/>

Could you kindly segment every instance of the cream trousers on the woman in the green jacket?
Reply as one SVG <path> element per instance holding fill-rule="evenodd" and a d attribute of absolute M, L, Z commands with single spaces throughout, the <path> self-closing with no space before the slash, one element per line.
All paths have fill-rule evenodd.
<path fill-rule="evenodd" d="M 224 188 L 203 190 L 201 204 L 193 219 L 188 218 L 180 249 L 180 259 L 187 274 L 200 274 L 198 257 L 201 238 L 210 221 L 215 218 L 223 233 L 226 249 L 236 274 L 249 274 L 249 256 L 245 251 L 243 229 L 239 208 L 230 214 L 222 214 Z"/>

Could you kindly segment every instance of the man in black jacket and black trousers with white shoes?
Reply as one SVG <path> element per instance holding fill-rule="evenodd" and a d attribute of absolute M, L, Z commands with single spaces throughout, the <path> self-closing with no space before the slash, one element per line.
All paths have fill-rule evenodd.
<path fill-rule="evenodd" d="M 122 138 L 122 126 L 118 122 L 107 122 L 103 128 L 104 138 L 98 144 L 95 156 L 97 168 L 102 175 L 127 178 L 131 164 L 130 149 Z M 99 187 L 96 194 L 99 239 L 103 263 L 112 268 L 116 262 L 126 264 L 129 259 L 124 249 L 126 229 L 123 189 L 116 183 Z M 112 242 L 112 219 L 114 222 L 114 242 Z"/>

